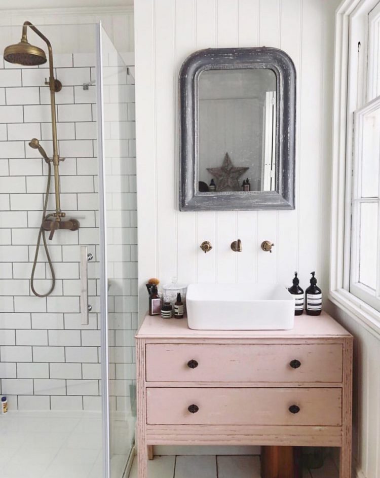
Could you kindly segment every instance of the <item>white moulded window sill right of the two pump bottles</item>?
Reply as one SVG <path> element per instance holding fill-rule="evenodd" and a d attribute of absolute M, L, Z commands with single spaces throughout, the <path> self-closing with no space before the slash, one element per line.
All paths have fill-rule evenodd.
<path fill-rule="evenodd" d="M 345 289 L 331 290 L 330 301 L 346 312 L 355 322 L 380 339 L 380 312 Z"/>

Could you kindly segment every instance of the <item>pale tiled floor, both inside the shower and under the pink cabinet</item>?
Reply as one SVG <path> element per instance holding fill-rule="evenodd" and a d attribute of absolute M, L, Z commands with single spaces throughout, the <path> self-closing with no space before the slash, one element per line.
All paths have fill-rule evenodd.
<path fill-rule="evenodd" d="M 120 422 L 122 423 L 122 422 Z M 125 424 L 123 427 L 125 429 Z M 117 438 L 117 437 L 115 437 Z M 120 444 L 123 437 L 119 436 Z M 0 416 L 1 478 L 101 478 L 101 417 L 91 412 L 14 412 Z M 125 459 L 112 458 L 112 476 L 121 478 Z M 149 478 L 260 478 L 259 457 L 156 456 Z M 135 459 L 130 478 L 137 478 Z M 337 478 L 332 460 L 303 478 Z"/>

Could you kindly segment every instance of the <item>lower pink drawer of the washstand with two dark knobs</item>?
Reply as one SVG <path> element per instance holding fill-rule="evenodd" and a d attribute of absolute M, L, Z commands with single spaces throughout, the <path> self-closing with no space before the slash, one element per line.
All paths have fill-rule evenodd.
<path fill-rule="evenodd" d="M 340 426 L 341 389 L 147 388 L 146 408 L 157 425 Z"/>

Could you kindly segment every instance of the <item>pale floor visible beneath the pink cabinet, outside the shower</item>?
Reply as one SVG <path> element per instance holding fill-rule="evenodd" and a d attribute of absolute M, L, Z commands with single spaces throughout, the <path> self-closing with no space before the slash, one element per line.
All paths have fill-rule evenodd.
<path fill-rule="evenodd" d="M 260 459 L 239 456 L 156 456 L 148 462 L 149 478 L 260 478 Z M 129 478 L 137 478 L 135 458 Z M 321 469 L 305 470 L 303 478 L 338 478 L 331 459 Z"/>

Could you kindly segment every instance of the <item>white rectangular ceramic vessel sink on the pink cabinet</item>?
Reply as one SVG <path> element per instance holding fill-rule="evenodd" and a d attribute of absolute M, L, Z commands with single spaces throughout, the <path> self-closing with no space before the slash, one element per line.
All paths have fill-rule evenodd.
<path fill-rule="evenodd" d="M 196 330 L 288 330 L 294 298 L 279 284 L 190 284 L 187 323 Z"/>

